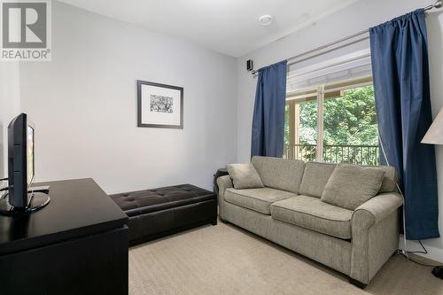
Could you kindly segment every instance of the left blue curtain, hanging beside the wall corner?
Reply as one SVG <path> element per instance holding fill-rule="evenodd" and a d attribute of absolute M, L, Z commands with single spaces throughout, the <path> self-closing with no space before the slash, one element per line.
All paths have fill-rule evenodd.
<path fill-rule="evenodd" d="M 284 60 L 259 70 L 253 107 L 251 157 L 283 156 L 286 63 Z"/>

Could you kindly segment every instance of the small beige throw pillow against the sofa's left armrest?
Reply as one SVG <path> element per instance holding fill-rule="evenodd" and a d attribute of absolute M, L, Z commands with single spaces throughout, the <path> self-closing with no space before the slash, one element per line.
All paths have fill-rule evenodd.
<path fill-rule="evenodd" d="M 260 175 L 253 167 L 253 164 L 228 164 L 226 166 L 234 188 L 241 189 L 255 189 L 262 188 L 263 182 L 261 182 Z"/>

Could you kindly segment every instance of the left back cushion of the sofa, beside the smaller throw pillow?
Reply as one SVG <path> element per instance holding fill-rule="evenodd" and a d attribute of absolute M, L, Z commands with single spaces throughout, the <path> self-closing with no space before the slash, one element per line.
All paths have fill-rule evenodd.
<path fill-rule="evenodd" d="M 261 181 L 268 188 L 299 193 L 299 183 L 305 169 L 305 162 L 298 159 L 253 157 Z"/>

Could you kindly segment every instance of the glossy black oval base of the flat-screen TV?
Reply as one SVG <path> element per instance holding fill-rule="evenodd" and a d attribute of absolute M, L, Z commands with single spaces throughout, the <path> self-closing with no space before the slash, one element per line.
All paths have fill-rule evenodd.
<path fill-rule="evenodd" d="M 8 195 L 0 199 L 0 214 L 2 215 L 19 215 L 33 213 L 50 203 L 50 195 L 43 192 L 29 192 L 29 205 L 26 208 L 16 208 L 9 204 Z"/>

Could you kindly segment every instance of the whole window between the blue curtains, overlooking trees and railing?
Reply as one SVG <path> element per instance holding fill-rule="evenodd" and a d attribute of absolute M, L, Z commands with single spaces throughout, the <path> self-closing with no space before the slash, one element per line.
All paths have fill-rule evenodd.
<path fill-rule="evenodd" d="M 284 158 L 378 165 L 370 75 L 287 93 Z"/>

